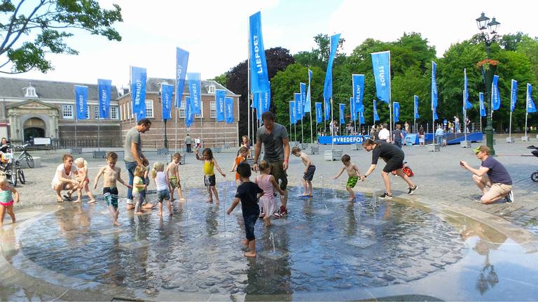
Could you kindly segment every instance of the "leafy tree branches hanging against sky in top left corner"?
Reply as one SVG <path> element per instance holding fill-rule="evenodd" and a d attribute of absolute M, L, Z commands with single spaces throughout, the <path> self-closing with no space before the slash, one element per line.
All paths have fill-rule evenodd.
<path fill-rule="evenodd" d="M 72 29 L 121 41 L 111 26 L 121 22 L 121 8 L 102 9 L 95 0 L 0 0 L 0 72 L 25 73 L 53 70 L 47 53 L 77 55 L 65 38 Z"/>

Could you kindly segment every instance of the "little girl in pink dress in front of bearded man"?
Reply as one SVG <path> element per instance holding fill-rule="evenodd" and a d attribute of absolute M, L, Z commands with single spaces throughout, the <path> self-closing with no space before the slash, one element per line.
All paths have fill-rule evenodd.
<path fill-rule="evenodd" d="M 280 189 L 275 176 L 270 175 L 271 166 L 267 161 L 261 161 L 260 163 L 260 175 L 256 177 L 256 184 L 263 190 L 264 194 L 260 198 L 261 207 L 263 208 L 263 223 L 265 227 L 271 226 L 270 217 L 272 215 L 278 215 L 275 213 L 277 211 L 277 202 L 275 201 L 275 189 L 280 193 L 280 196 L 284 195 L 284 191 Z M 280 216 L 278 216 L 280 217 Z"/>

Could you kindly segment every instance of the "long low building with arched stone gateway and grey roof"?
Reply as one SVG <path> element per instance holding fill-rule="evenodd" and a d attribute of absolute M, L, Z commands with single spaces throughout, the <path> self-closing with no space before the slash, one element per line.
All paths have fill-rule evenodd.
<path fill-rule="evenodd" d="M 97 82 L 97 80 L 96 80 Z M 88 119 L 76 120 L 74 85 L 88 86 Z M 50 137 L 73 145 L 118 145 L 118 91 L 111 90 L 109 119 L 98 119 L 97 84 L 0 78 L 0 136 L 11 141 Z"/>

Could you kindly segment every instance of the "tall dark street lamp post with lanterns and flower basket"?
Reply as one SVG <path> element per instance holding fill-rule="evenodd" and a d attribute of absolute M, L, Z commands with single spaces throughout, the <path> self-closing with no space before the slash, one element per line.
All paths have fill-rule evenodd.
<path fill-rule="evenodd" d="M 488 54 L 487 59 L 490 59 L 491 44 L 495 42 L 495 38 L 497 37 L 497 29 L 500 25 L 500 23 L 495 20 L 495 17 L 493 17 L 490 22 L 488 22 L 489 20 L 490 18 L 486 17 L 484 13 L 482 13 L 481 16 L 476 19 L 476 24 L 478 25 L 478 29 L 480 30 L 480 36 L 485 43 L 485 50 Z M 489 34 L 485 32 L 486 29 L 488 29 Z M 491 84 L 493 82 L 493 75 L 495 75 L 497 66 L 493 64 L 488 64 L 488 68 L 485 68 L 484 65 L 482 65 L 482 75 L 484 77 L 485 84 L 485 99 L 487 100 L 486 102 L 488 103 L 489 108 L 489 112 L 486 117 L 487 123 L 485 127 L 485 141 L 486 145 L 488 145 L 488 148 L 490 148 L 490 155 L 495 156 L 495 149 L 493 148 L 493 108 L 491 102 Z"/>

